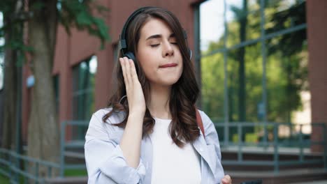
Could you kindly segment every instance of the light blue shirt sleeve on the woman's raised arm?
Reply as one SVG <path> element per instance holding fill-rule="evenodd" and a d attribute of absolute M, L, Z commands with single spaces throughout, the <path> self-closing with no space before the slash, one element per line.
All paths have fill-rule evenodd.
<path fill-rule="evenodd" d="M 143 160 L 140 159 L 136 169 L 129 167 L 122 149 L 114 137 L 110 136 L 110 131 L 106 132 L 101 119 L 93 114 L 85 136 L 88 183 L 143 183 L 145 178 Z"/>

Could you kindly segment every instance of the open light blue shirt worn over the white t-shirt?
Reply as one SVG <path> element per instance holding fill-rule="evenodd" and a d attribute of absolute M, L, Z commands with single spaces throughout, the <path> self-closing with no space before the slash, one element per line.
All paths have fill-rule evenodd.
<path fill-rule="evenodd" d="M 89 129 L 85 136 L 88 183 L 150 184 L 152 176 L 152 142 L 150 137 L 142 139 L 138 167 L 136 169 L 129 167 L 119 146 L 124 129 L 110 125 L 110 123 L 122 122 L 124 113 L 112 114 L 106 123 L 103 123 L 102 117 L 110 110 L 100 109 L 93 114 L 89 122 Z M 194 141 L 193 146 L 201 155 L 201 183 L 220 183 L 221 179 L 224 178 L 224 169 L 221 166 L 218 135 L 210 118 L 204 112 L 199 112 L 205 130 L 205 139 L 200 131 L 201 136 Z"/>

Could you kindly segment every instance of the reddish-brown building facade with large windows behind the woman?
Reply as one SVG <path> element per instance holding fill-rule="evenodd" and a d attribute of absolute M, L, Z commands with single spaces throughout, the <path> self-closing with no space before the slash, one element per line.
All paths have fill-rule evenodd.
<path fill-rule="evenodd" d="M 68 36 L 58 27 L 53 75 L 59 121 L 89 120 L 106 107 L 113 92 L 119 33 L 127 17 L 142 6 L 160 6 L 177 15 L 193 50 L 201 99 L 198 106 L 215 123 L 291 123 L 286 135 L 296 135 L 294 114 L 301 111 L 302 94 L 310 94 L 307 123 L 327 125 L 326 1 L 101 1 L 110 9 L 105 19 L 110 42 L 86 32 Z M 128 6 L 126 6 L 126 4 Z M 212 13 L 212 14 L 210 14 Z M 207 23 L 206 23 L 207 22 Z M 24 69 L 24 78 L 31 76 Z M 31 90 L 23 86 L 23 139 Z M 311 128 L 311 125 L 309 125 Z M 287 126 L 286 126 L 287 127 Z M 305 128 L 305 126 L 303 126 Z M 301 128 L 302 130 L 302 128 Z M 85 130 L 73 135 L 83 137 Z M 219 130 L 218 130 L 219 131 Z M 261 128 L 247 128 L 257 140 L 269 139 Z M 286 132 L 287 132 L 286 131 Z M 221 142 L 233 141 L 233 128 L 219 132 Z M 310 137 L 319 141 L 326 132 L 312 126 Z M 244 135 L 244 139 L 247 135 Z M 313 146 L 321 151 L 323 146 Z"/>

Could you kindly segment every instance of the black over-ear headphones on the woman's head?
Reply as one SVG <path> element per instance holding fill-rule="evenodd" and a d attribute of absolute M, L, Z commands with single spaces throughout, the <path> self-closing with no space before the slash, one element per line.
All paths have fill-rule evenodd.
<path fill-rule="evenodd" d="M 135 10 L 129 16 L 129 18 L 126 20 L 126 22 L 125 22 L 125 24 L 124 24 L 124 26 L 122 28 L 122 33 L 119 36 L 119 45 L 118 45 L 118 47 L 119 47 L 120 52 L 122 52 L 122 55 L 124 57 L 127 57 L 127 58 L 133 60 L 136 67 L 137 67 L 137 64 L 136 64 L 136 56 L 133 54 L 133 52 L 130 52 L 128 50 L 128 47 L 127 47 L 127 42 L 126 42 L 126 29 L 127 29 L 127 26 L 129 26 L 129 23 L 137 15 L 139 15 L 140 13 L 143 13 L 145 10 L 147 10 L 149 8 L 155 8 L 155 7 L 146 6 L 146 7 L 138 8 L 137 10 Z M 185 38 L 185 40 L 187 40 L 187 33 L 186 33 L 186 31 L 184 31 L 184 38 Z M 191 59 L 191 58 L 192 58 L 192 51 L 191 51 L 191 49 L 189 49 L 189 59 Z M 138 71 L 138 68 L 136 68 L 136 71 Z"/>

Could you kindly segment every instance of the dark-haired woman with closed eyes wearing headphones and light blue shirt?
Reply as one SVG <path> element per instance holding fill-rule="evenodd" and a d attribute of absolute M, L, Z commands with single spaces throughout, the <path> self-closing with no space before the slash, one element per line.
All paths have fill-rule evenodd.
<path fill-rule="evenodd" d="M 119 41 L 117 91 L 85 137 L 88 182 L 231 183 L 215 126 L 201 111 L 205 135 L 198 127 L 199 89 L 175 15 L 140 8 Z"/>

